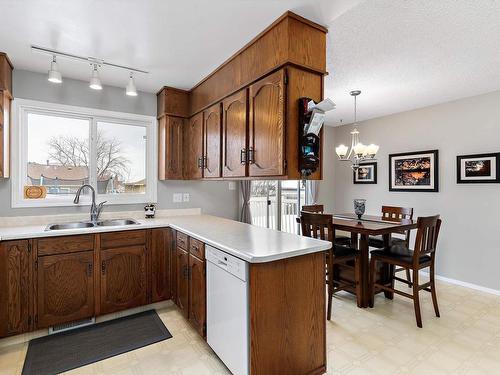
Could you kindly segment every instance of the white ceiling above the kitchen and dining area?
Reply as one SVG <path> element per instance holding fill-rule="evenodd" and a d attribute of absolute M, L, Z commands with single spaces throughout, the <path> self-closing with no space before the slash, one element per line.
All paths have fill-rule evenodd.
<path fill-rule="evenodd" d="M 329 125 L 500 89 L 500 2 L 494 0 L 2 0 L 0 51 L 46 72 L 40 45 L 144 69 L 141 91 L 191 88 L 290 9 L 329 28 Z M 29 10 L 29 11 L 27 11 Z M 90 67 L 60 59 L 63 77 Z M 104 84 L 128 72 L 104 67 Z M 342 120 L 342 121 L 341 121 Z"/>

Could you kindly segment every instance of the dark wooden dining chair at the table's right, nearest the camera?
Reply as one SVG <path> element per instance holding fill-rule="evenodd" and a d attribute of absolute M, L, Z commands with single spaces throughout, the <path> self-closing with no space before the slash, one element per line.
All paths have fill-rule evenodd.
<path fill-rule="evenodd" d="M 436 245 L 441 228 L 441 219 L 439 215 L 429 217 L 419 217 L 417 221 L 417 235 L 415 238 L 415 246 L 413 250 L 404 244 L 396 244 L 385 249 L 374 250 L 371 252 L 370 260 L 370 307 L 373 307 L 375 300 L 375 292 L 384 290 L 399 294 L 403 297 L 413 299 L 415 308 L 415 318 L 417 326 L 422 328 L 422 315 L 420 313 L 420 298 L 419 292 L 425 290 L 432 295 L 432 304 L 434 312 L 439 318 L 439 307 L 437 303 L 436 285 L 435 285 L 435 264 L 436 264 Z M 413 282 L 400 279 L 393 275 L 393 280 L 388 284 L 377 283 L 375 269 L 376 263 L 386 263 L 393 266 L 400 266 L 413 272 Z M 419 271 L 429 267 L 430 280 L 422 285 L 419 284 Z M 413 288 L 413 293 L 405 293 L 394 288 L 394 280 L 403 283 L 410 283 Z"/>

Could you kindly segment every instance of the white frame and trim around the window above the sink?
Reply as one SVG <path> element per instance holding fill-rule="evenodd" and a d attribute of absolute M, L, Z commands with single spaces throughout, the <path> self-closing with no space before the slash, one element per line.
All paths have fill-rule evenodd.
<path fill-rule="evenodd" d="M 73 206 L 72 197 L 51 197 L 46 199 L 24 199 L 23 187 L 25 185 L 24 177 L 27 172 L 27 153 L 25 152 L 28 137 L 26 116 L 28 112 L 40 112 L 54 114 L 59 112 L 67 117 L 84 117 L 90 119 L 90 126 L 96 127 L 98 121 L 119 122 L 122 124 L 141 125 L 146 128 L 147 147 L 146 147 L 146 193 L 145 194 L 99 194 L 99 201 L 107 201 L 107 205 L 115 204 L 140 204 L 157 202 L 157 121 L 153 116 L 136 115 L 132 113 L 114 112 L 102 109 L 69 106 L 64 104 L 47 103 L 28 99 L 14 99 L 12 103 L 12 119 L 14 126 L 11 133 L 12 144 L 12 208 L 22 207 L 61 207 Z M 90 130 L 89 130 L 90 131 Z M 92 157 L 91 157 L 91 160 Z M 92 170 L 92 167 L 91 167 Z M 90 181 L 95 186 L 95 176 L 90 172 Z M 80 206 L 89 205 L 90 200 L 80 200 Z"/>

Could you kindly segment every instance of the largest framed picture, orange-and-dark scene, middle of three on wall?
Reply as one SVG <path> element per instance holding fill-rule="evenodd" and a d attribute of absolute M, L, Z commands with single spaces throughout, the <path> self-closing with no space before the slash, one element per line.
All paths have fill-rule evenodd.
<path fill-rule="evenodd" d="M 438 150 L 389 155 L 389 191 L 439 191 Z"/>

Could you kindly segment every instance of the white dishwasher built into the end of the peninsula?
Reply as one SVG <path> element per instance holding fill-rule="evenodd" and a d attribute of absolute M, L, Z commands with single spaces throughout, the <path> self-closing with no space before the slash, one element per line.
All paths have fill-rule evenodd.
<path fill-rule="evenodd" d="M 248 375 L 248 263 L 212 246 L 205 253 L 208 345 L 234 375 Z"/>

